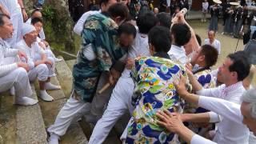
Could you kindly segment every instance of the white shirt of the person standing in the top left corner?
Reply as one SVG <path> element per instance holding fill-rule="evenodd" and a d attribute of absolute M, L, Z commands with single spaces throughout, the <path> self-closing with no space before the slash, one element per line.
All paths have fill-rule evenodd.
<path fill-rule="evenodd" d="M 18 0 L 0 0 L 0 3 L 5 7 L 6 10 L 8 10 L 11 15 L 19 14 L 22 12 L 21 6 L 18 4 Z"/>

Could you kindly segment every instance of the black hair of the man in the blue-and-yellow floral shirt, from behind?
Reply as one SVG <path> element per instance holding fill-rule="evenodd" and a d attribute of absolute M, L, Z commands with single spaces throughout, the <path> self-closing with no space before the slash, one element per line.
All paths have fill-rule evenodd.
<path fill-rule="evenodd" d="M 170 50 L 170 30 L 164 26 L 154 26 L 149 34 L 149 43 L 156 52 L 167 53 Z"/>

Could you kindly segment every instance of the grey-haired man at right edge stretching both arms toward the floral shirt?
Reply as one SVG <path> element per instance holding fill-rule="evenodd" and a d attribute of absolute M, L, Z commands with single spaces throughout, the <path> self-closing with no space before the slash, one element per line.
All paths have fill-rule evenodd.
<path fill-rule="evenodd" d="M 182 78 L 180 82 L 174 84 L 178 94 L 186 100 L 186 102 L 192 102 L 198 104 L 207 110 L 212 110 L 215 113 L 222 115 L 223 118 L 229 119 L 235 125 L 246 126 L 242 131 L 242 134 L 249 133 L 249 130 L 256 135 L 256 90 L 248 90 L 242 94 L 242 104 L 236 104 L 234 102 L 228 102 L 221 98 L 209 98 L 205 96 L 198 96 L 196 94 L 190 94 L 186 91 L 185 78 Z M 167 130 L 177 133 L 183 140 L 191 144 L 217 144 L 217 142 L 211 142 L 206 138 L 202 138 L 198 134 L 194 134 L 182 121 L 186 118 L 179 114 L 170 113 L 164 110 L 164 112 L 158 112 L 159 125 L 165 126 Z M 201 117 L 202 121 L 210 120 L 205 116 Z M 249 129 L 248 129 L 249 128 Z M 229 131 L 226 131 L 229 132 Z M 236 139 L 236 138 L 234 138 Z M 223 142 L 218 142 L 223 143 Z M 224 142 L 226 144 L 226 142 Z M 231 142 L 232 143 L 232 142 Z M 249 142 L 234 142 L 248 144 Z M 252 143 L 251 143 L 252 144 Z"/>

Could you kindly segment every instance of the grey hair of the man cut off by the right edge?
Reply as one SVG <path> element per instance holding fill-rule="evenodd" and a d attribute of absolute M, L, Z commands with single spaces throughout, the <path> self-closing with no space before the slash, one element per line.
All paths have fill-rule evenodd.
<path fill-rule="evenodd" d="M 256 89 L 247 90 L 242 94 L 242 102 L 250 103 L 250 115 L 256 118 Z"/>

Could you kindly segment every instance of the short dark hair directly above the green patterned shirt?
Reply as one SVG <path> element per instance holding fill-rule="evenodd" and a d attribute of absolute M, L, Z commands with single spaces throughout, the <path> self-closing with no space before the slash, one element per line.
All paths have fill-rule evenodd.
<path fill-rule="evenodd" d="M 122 19 L 128 18 L 129 10 L 127 6 L 125 6 L 122 3 L 115 3 L 112 6 L 110 6 L 108 10 L 108 14 L 110 14 L 111 17 L 120 17 Z"/>

